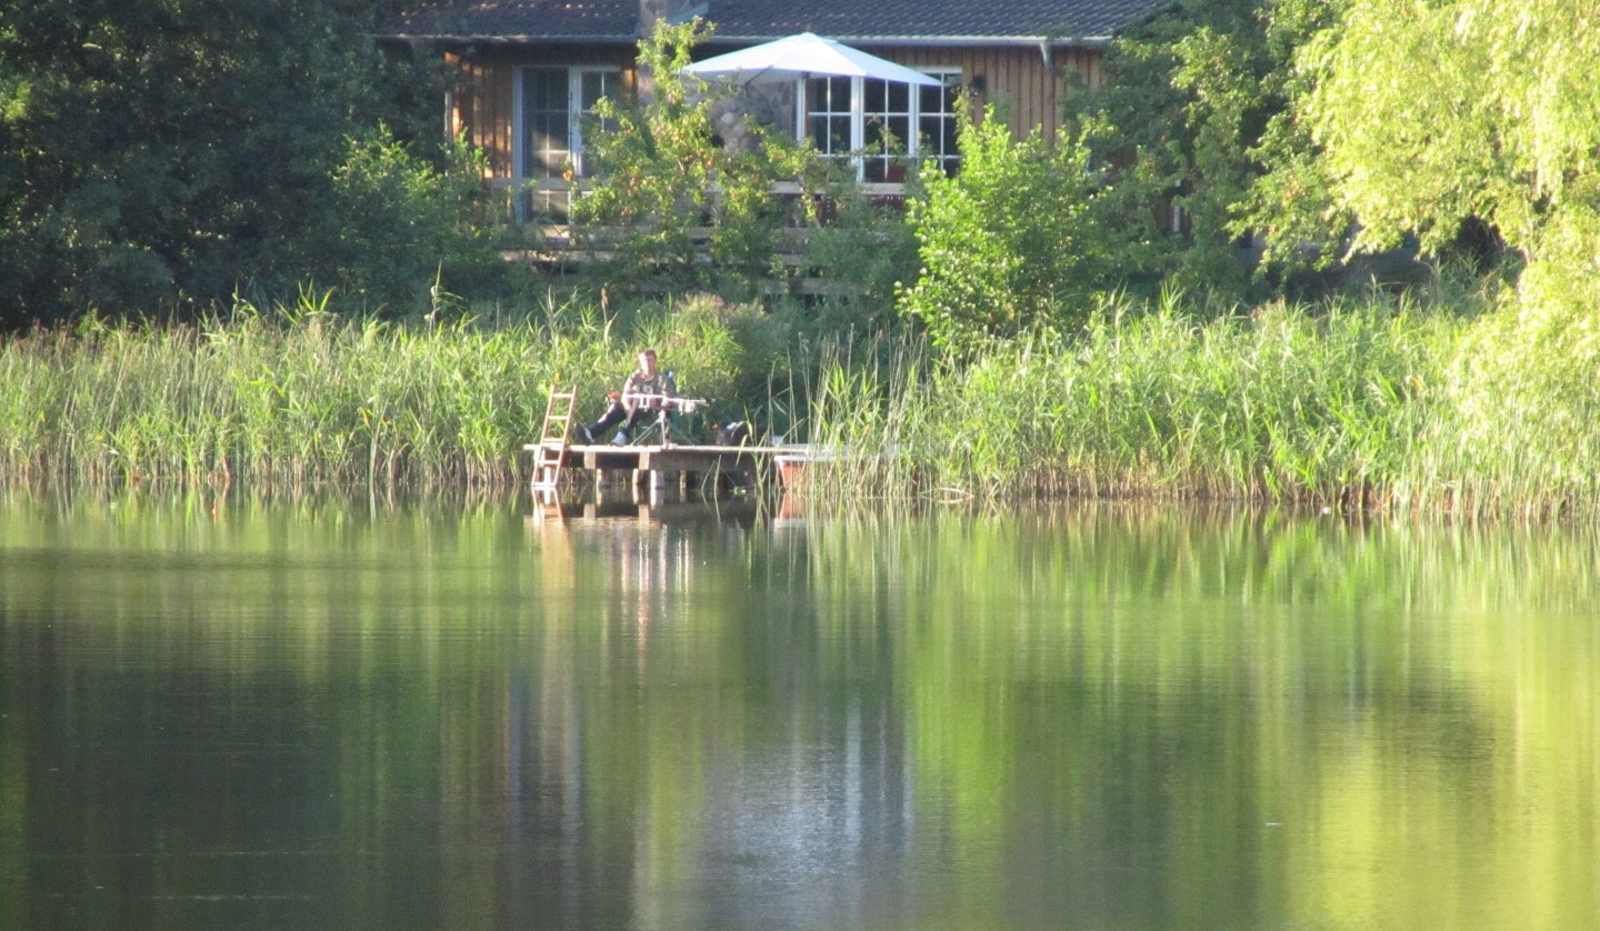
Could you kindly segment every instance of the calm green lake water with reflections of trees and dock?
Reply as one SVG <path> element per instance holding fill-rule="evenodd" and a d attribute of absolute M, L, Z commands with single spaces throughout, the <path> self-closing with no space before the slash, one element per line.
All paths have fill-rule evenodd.
<path fill-rule="evenodd" d="M 0 928 L 1594 928 L 1589 529 L 0 494 Z"/>

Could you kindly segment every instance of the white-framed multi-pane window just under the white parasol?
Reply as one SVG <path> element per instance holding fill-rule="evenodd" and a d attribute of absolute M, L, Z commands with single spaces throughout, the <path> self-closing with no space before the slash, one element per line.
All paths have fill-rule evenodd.
<path fill-rule="evenodd" d="M 962 74 L 928 70 L 939 86 L 874 78 L 811 78 L 802 133 L 818 152 L 848 160 L 862 181 L 899 181 L 907 162 L 933 160 L 954 174 L 955 94 Z"/>

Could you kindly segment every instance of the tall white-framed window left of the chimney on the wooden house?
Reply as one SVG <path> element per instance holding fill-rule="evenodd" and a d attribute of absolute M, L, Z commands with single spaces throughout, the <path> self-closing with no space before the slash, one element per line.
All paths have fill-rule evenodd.
<path fill-rule="evenodd" d="M 582 125 L 600 98 L 616 98 L 622 72 L 614 67 L 525 67 L 517 82 L 517 178 L 531 181 L 533 214 L 566 218 L 570 194 L 562 179 L 584 165 Z"/>

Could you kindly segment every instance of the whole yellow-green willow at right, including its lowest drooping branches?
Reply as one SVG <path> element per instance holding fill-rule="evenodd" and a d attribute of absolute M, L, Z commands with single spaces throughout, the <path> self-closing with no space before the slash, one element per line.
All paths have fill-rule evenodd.
<path fill-rule="evenodd" d="M 1586 477 L 1600 374 L 1600 19 L 1576 0 L 1352 0 L 1304 114 L 1358 248 L 1485 224 L 1522 259 L 1442 386 L 1461 456 Z M 1507 437 L 1517 440 L 1512 448 Z"/>

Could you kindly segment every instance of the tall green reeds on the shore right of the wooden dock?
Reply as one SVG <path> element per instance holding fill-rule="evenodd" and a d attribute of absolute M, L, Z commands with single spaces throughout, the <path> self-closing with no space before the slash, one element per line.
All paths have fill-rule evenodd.
<path fill-rule="evenodd" d="M 813 378 L 822 499 L 1090 494 L 1550 515 L 1600 509 L 1600 349 L 1374 296 L 1195 320 L 1110 301 L 1074 336 Z M 1509 323 L 1510 322 L 1510 323 Z M 1600 341 L 1595 341 L 1600 344 Z M 1574 362 L 1576 360 L 1576 362 Z"/>

